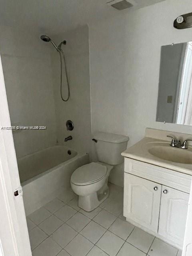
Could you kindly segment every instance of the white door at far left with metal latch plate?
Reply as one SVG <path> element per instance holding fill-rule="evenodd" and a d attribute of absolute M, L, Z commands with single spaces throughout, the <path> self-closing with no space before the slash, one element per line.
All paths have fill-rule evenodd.
<path fill-rule="evenodd" d="M 0 59 L 0 255 L 31 256 L 22 195 L 14 196 L 20 180 L 13 136 L 2 130 L 10 125 Z"/>

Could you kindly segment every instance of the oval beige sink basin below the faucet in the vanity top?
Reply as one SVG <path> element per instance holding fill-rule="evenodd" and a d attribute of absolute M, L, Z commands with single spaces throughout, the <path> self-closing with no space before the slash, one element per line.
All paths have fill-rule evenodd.
<path fill-rule="evenodd" d="M 181 164 L 192 164 L 192 151 L 171 146 L 153 146 L 148 152 L 158 158 Z"/>

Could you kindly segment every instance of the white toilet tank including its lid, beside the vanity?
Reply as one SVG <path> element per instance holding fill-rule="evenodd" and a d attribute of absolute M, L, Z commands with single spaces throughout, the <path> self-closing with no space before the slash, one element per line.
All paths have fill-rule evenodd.
<path fill-rule="evenodd" d="M 98 160 L 106 164 L 116 165 L 121 164 L 124 160 L 121 153 L 126 150 L 129 137 L 106 133 L 95 132 L 94 139 Z"/>

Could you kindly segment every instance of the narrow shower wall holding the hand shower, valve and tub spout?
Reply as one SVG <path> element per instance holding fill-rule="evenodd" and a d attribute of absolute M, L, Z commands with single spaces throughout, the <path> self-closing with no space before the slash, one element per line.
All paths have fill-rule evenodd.
<path fill-rule="evenodd" d="M 70 82 L 70 99 L 63 102 L 60 97 L 60 60 L 57 51 L 52 48 L 52 74 L 54 80 L 54 99 L 56 108 L 58 142 L 77 150 L 90 152 L 91 121 L 90 121 L 90 76 L 89 76 L 89 39 L 88 27 L 83 26 L 76 30 L 52 36 L 62 46 L 66 56 L 68 77 Z M 64 70 L 64 68 L 63 68 Z M 63 72 L 63 97 L 67 97 L 67 84 Z M 66 130 L 66 121 L 74 122 L 74 130 Z M 72 140 L 64 142 L 64 138 L 71 135 Z"/>

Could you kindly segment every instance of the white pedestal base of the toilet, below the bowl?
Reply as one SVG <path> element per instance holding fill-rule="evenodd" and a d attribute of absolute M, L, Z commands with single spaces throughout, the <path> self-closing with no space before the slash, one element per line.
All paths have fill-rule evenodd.
<path fill-rule="evenodd" d="M 88 196 L 79 196 L 78 206 L 86 212 L 91 212 L 97 208 L 109 196 L 109 187 L 107 182 L 100 190 Z"/>

